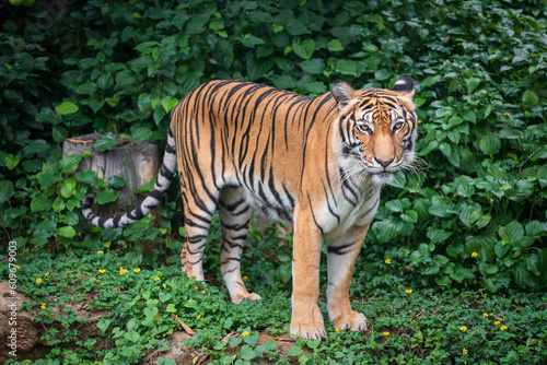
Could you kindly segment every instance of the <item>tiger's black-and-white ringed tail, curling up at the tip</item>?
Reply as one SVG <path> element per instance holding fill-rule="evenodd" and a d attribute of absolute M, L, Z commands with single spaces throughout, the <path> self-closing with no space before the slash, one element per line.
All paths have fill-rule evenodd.
<path fill-rule="evenodd" d="M 130 213 L 126 215 L 118 215 L 115 217 L 102 217 L 97 216 L 91 210 L 91 204 L 95 200 L 95 197 L 90 193 L 85 196 L 82 201 L 82 214 L 88 221 L 93 225 L 104 228 L 115 228 L 124 227 L 131 223 L 135 223 L 144 215 L 147 215 L 162 199 L 164 192 L 168 189 L 171 181 L 173 180 L 173 173 L 176 167 L 176 150 L 175 150 L 175 139 L 173 138 L 173 131 L 170 128 L 167 137 L 167 146 L 165 148 L 165 154 L 163 155 L 163 163 L 160 174 L 158 175 L 158 180 L 155 181 L 153 190 L 150 195 L 142 201 L 142 203 L 133 209 Z"/>

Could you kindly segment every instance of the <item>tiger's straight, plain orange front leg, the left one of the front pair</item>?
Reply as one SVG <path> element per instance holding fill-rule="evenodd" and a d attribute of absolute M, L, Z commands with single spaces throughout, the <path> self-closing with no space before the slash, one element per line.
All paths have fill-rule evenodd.
<path fill-rule="evenodd" d="M 319 296 L 319 260 L 323 234 L 314 223 L 310 209 L 296 205 L 292 257 L 292 319 L 290 334 L 294 338 L 326 338 Z"/>

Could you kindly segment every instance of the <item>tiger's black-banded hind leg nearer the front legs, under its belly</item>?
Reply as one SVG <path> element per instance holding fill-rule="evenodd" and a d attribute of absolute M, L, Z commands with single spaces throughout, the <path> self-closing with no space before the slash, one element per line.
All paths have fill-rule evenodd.
<path fill-rule="evenodd" d="M 241 276 L 241 255 L 248 233 L 251 209 L 241 189 L 222 189 L 219 200 L 222 247 L 220 249 L 221 272 L 230 292 L 232 303 L 244 298 L 258 301 L 260 296 L 247 292 Z"/>

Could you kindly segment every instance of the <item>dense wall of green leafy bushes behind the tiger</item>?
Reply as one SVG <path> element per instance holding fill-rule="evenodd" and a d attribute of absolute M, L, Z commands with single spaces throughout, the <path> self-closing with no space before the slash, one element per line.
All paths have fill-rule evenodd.
<path fill-rule="evenodd" d="M 39 1 L 14 8 L 0 32 L 0 238 L 16 240 L 21 259 L 116 248 L 133 266 L 178 262 L 176 187 L 160 227 L 150 219 L 124 231 L 91 228 L 82 198 L 98 190 L 98 200 L 112 201 L 120 181 L 78 172 L 81 156 L 61 157 L 68 137 L 107 132 L 98 150 L 118 132 L 163 141 L 171 108 L 211 79 L 314 96 L 337 79 L 389 87 L 406 73 L 419 82 L 420 168 L 385 189 L 352 294 L 386 285 L 547 289 L 542 0 L 94 0 L 45 19 Z M 220 279 L 219 235 L 211 232 L 217 252 L 206 255 L 209 278 Z M 265 245 L 253 237 L 249 246 Z M 142 255 L 147 243 L 159 245 L 153 256 Z M 251 266 L 253 278 L 288 293 L 290 249 L 268 252 L 271 260 Z M 428 349 L 450 351 L 438 342 Z"/>

